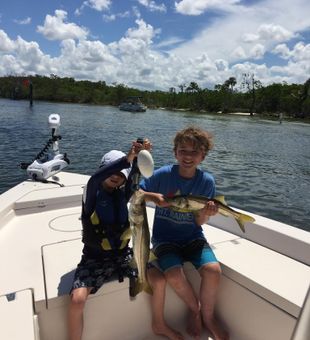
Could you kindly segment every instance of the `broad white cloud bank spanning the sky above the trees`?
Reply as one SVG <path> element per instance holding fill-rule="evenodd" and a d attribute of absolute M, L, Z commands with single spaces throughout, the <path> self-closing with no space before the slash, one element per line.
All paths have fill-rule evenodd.
<path fill-rule="evenodd" d="M 167 35 L 157 43 L 160 30 L 143 20 L 136 7 L 138 19 L 133 27 L 109 44 L 88 40 L 88 31 L 69 23 L 67 13 L 58 10 L 54 16 L 46 16 L 40 32 L 49 39 L 61 41 L 59 55 L 52 58 L 41 51 L 38 43 L 21 37 L 11 40 L 0 30 L 0 74 L 54 73 L 60 77 L 162 90 L 190 81 L 202 88 L 213 88 L 231 76 L 240 82 L 242 73 L 254 73 L 263 84 L 283 80 L 305 82 L 310 74 L 310 45 L 297 38 L 301 36 L 300 31 L 309 27 L 309 19 L 302 20 L 308 2 L 282 0 L 280 5 L 276 0 L 269 0 L 269 7 L 266 4 L 266 1 L 259 2 L 251 8 L 239 7 L 240 13 L 226 13 L 187 43 L 180 37 Z M 291 7 L 289 11 L 285 7 L 286 11 L 300 20 L 292 23 L 288 20 L 289 14 L 284 9 L 281 12 L 281 6 L 288 4 Z M 179 47 L 170 49 L 169 53 L 159 52 L 176 45 Z M 266 63 L 255 63 L 266 52 L 273 53 L 275 58 L 285 58 L 285 65 L 268 67 Z"/>

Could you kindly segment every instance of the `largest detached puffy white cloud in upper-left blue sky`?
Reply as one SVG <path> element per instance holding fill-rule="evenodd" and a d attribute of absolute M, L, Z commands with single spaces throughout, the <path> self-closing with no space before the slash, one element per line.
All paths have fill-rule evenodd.
<path fill-rule="evenodd" d="M 55 16 L 46 15 L 44 25 L 38 26 L 37 31 L 48 40 L 85 39 L 88 35 L 86 28 L 74 23 L 66 23 L 67 12 L 57 9 Z"/>

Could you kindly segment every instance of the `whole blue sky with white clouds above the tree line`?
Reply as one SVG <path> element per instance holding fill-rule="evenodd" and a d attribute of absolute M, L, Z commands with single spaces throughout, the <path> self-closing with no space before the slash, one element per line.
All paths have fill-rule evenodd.
<path fill-rule="evenodd" d="M 168 91 L 310 78 L 309 0 L 3 0 L 0 76 Z"/>

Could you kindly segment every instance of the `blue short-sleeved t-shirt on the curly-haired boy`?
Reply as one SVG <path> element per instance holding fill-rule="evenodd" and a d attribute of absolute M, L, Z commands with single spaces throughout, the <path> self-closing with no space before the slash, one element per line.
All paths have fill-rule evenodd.
<path fill-rule="evenodd" d="M 140 187 L 144 191 L 173 195 L 203 195 L 213 198 L 215 181 L 211 174 L 200 169 L 193 178 L 186 179 L 179 175 L 179 165 L 166 165 L 143 179 Z M 187 243 L 204 237 L 202 228 L 195 222 L 193 213 L 176 212 L 169 208 L 156 207 L 153 225 L 153 244 L 162 242 Z"/>

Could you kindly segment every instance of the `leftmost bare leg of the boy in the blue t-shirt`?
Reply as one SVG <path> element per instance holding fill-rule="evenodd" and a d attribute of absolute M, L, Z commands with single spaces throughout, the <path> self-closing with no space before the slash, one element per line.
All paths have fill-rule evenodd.
<path fill-rule="evenodd" d="M 170 340 L 183 340 L 182 334 L 170 328 L 164 319 L 166 279 L 156 267 L 147 270 L 148 281 L 152 287 L 152 329 L 157 335 L 166 336 Z"/>

